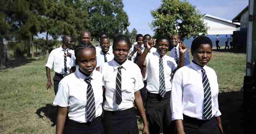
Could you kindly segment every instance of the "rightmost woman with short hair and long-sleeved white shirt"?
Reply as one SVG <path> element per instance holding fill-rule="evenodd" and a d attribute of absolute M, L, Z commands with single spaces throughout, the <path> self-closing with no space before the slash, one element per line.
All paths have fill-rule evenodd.
<path fill-rule="evenodd" d="M 197 37 L 191 45 L 192 62 L 172 79 L 171 109 L 177 134 L 223 133 L 215 71 L 206 66 L 212 56 L 212 41 Z"/>

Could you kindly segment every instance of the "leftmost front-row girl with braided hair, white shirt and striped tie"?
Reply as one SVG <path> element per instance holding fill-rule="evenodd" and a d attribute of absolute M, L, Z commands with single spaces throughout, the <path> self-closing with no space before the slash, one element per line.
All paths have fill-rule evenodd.
<path fill-rule="evenodd" d="M 75 55 L 79 69 L 60 81 L 53 101 L 58 106 L 56 134 L 102 134 L 103 75 L 95 70 L 95 48 L 81 43 Z"/>

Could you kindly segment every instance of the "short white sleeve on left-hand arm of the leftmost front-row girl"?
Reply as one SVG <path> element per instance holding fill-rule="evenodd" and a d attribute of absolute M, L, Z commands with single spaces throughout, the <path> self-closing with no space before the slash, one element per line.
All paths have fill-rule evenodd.
<path fill-rule="evenodd" d="M 64 81 L 60 81 L 58 92 L 53 100 L 53 105 L 58 105 L 60 107 L 68 107 L 69 103 L 68 95 L 68 85 Z"/>

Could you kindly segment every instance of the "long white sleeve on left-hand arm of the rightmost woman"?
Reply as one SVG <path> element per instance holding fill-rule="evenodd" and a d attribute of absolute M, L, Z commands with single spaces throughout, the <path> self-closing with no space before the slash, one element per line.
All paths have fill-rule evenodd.
<path fill-rule="evenodd" d="M 182 105 L 182 74 L 177 71 L 174 74 L 172 80 L 172 90 L 171 90 L 171 111 L 172 111 L 172 121 L 173 120 L 183 120 L 183 105 Z"/>

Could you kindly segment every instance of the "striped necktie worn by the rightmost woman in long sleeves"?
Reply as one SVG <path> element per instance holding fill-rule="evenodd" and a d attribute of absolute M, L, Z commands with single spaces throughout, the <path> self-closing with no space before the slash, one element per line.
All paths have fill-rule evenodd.
<path fill-rule="evenodd" d="M 203 86 L 204 86 L 204 117 L 210 119 L 212 117 L 212 95 L 211 87 L 205 70 L 202 68 L 201 72 L 203 73 Z"/>

